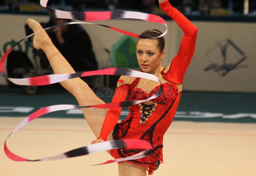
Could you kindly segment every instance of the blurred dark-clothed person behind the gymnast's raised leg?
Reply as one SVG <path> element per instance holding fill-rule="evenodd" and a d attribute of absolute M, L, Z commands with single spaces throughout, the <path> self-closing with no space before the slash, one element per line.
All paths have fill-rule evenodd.
<path fill-rule="evenodd" d="M 71 20 L 51 17 L 49 22 L 41 23 L 41 25 L 43 28 L 48 28 L 70 21 Z M 25 29 L 27 35 L 32 33 L 28 28 L 28 25 L 25 25 Z M 76 72 L 98 69 L 98 63 L 92 50 L 91 39 L 84 28 L 80 25 L 72 24 L 57 26 L 47 30 L 46 32 L 50 36 L 52 43 L 57 47 Z M 41 68 L 49 68 L 49 62 L 42 51 L 39 52 L 39 57 Z M 88 83 L 91 82 L 91 86 L 93 85 L 92 79 L 86 81 L 88 81 Z"/>

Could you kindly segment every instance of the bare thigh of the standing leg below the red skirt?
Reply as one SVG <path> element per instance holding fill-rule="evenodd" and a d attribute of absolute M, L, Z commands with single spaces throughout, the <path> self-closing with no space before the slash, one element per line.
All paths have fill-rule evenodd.
<path fill-rule="evenodd" d="M 119 176 L 146 176 L 146 168 L 137 166 L 135 164 L 130 164 L 127 162 L 122 162 L 118 164 Z"/>

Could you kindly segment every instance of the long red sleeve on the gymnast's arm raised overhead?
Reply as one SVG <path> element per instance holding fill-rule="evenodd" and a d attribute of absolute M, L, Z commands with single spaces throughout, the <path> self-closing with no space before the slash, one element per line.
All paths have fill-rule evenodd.
<path fill-rule="evenodd" d="M 172 7 L 168 0 L 159 4 L 159 6 L 184 32 L 179 52 L 173 58 L 171 65 L 172 69 L 176 69 L 172 79 L 176 84 L 182 84 L 185 72 L 195 51 L 197 28 L 180 11 Z"/>

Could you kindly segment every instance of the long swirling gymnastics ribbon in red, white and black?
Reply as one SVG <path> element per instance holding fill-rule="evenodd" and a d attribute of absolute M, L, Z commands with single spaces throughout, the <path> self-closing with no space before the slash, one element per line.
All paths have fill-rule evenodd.
<path fill-rule="evenodd" d="M 164 24 L 166 26 L 166 30 L 163 33 L 164 36 L 167 33 L 167 25 L 166 22 L 161 18 L 156 15 L 151 15 L 151 14 L 146 14 L 146 13 L 140 13 L 140 12 L 128 12 L 128 11 L 115 11 L 115 12 L 65 12 L 65 11 L 60 11 L 56 9 L 51 9 L 46 7 L 48 0 L 41 0 L 40 4 L 45 8 L 45 10 L 51 14 L 52 16 L 56 18 L 66 18 L 66 19 L 74 19 L 74 20 L 110 20 L 110 19 L 140 19 L 140 20 L 146 20 L 149 22 L 158 22 L 161 24 Z M 87 22 L 69 22 L 69 23 L 63 23 L 59 25 L 52 26 L 50 28 L 54 28 L 56 26 L 61 26 L 61 25 L 67 25 L 67 24 L 95 24 L 95 23 L 87 23 Z M 100 25 L 104 26 L 113 30 L 116 30 L 118 32 L 124 33 L 129 36 L 137 37 L 137 38 L 156 38 L 156 37 L 145 37 L 145 36 L 140 36 L 138 34 L 134 34 L 128 31 L 124 31 L 121 29 L 117 28 L 112 28 L 106 25 L 101 25 L 101 24 L 95 24 L 95 25 Z M 46 28 L 44 30 L 50 29 Z M 40 32 L 40 31 L 38 31 Z M 124 76 L 134 76 L 134 77 L 141 77 L 141 78 L 146 78 L 150 79 L 156 82 L 160 82 L 160 80 L 148 73 L 142 73 L 126 68 L 107 68 L 107 69 L 102 69 L 102 70 L 95 70 L 95 71 L 88 71 L 88 72 L 82 72 L 82 73 L 74 73 L 74 74 L 55 74 L 55 75 L 44 75 L 44 76 L 36 76 L 36 77 L 30 77 L 30 78 L 8 78 L 5 74 L 4 71 L 4 61 L 7 58 L 7 55 L 12 51 L 12 49 L 22 42 L 23 40 L 27 39 L 28 37 L 35 35 L 31 34 L 27 37 L 24 37 L 21 39 L 19 42 L 14 44 L 7 52 L 4 53 L 3 57 L 0 60 L 0 75 L 8 79 L 9 81 L 13 82 L 14 84 L 18 85 L 48 85 L 48 84 L 54 84 L 58 83 L 61 81 L 65 81 L 68 79 L 76 78 L 76 77 L 84 77 L 84 76 L 93 76 L 93 75 L 124 75 Z M 158 36 L 158 37 L 161 37 Z M 151 100 L 154 99 L 158 96 L 160 96 L 163 92 L 163 86 L 161 84 L 161 89 L 158 90 L 152 97 L 149 97 L 146 100 Z M 78 106 L 78 105 L 54 105 L 54 106 L 49 106 L 45 107 L 42 109 L 37 110 L 36 112 L 32 113 L 29 115 L 27 118 L 25 118 L 12 132 L 16 132 L 19 130 L 21 127 L 24 125 L 28 124 L 30 121 L 36 119 L 37 117 L 43 116 L 44 114 L 54 112 L 54 111 L 59 111 L 59 110 L 67 110 L 67 109 L 73 109 L 73 108 L 116 108 L 116 107 L 124 107 L 124 106 L 132 106 L 136 105 L 139 103 L 142 103 L 146 100 L 135 100 L 135 101 L 124 101 L 124 102 L 116 102 L 116 103 L 107 103 L 107 104 L 99 104 L 99 105 L 92 105 L 92 106 Z M 11 135 L 10 134 L 10 135 Z M 10 136 L 9 135 L 9 136 Z M 8 137 L 9 137 L 8 136 Z M 102 142 L 102 143 L 96 143 L 92 144 L 86 147 L 82 148 L 76 148 L 74 150 L 68 151 L 66 153 L 56 155 L 56 156 L 50 156 L 46 158 L 41 158 L 41 159 L 36 159 L 36 160 L 29 160 L 20 156 L 15 155 L 12 153 L 7 145 L 6 141 L 8 137 L 5 140 L 4 143 L 4 152 L 6 156 L 8 156 L 10 159 L 14 161 L 45 161 L 45 160 L 57 160 L 57 159 L 64 159 L 64 158 L 69 158 L 69 157 L 76 157 L 76 156 L 83 156 L 87 154 L 92 154 L 95 152 L 99 151 L 104 151 L 104 150 L 110 150 L 110 149 L 115 149 L 115 148 L 138 148 L 138 149 L 147 149 L 143 152 L 140 152 L 136 155 L 125 157 L 125 158 L 120 158 L 116 160 L 109 160 L 105 163 L 102 164 L 108 164 L 108 163 L 113 163 L 113 162 L 120 162 L 120 161 L 125 161 L 125 160 L 133 160 L 133 159 L 139 159 L 145 156 L 151 155 L 154 150 L 147 141 L 145 140 L 134 140 L 134 139 L 127 139 L 127 140 L 114 140 L 114 141 L 107 141 L 107 142 Z M 98 164 L 96 164 L 98 165 Z"/>

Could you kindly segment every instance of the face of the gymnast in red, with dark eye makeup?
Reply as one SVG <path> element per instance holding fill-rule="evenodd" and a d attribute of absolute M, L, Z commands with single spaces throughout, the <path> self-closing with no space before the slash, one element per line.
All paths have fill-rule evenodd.
<path fill-rule="evenodd" d="M 137 42 L 137 60 L 142 71 L 158 74 L 165 51 L 161 52 L 156 39 L 139 39 Z"/>

